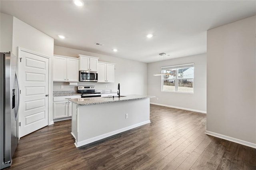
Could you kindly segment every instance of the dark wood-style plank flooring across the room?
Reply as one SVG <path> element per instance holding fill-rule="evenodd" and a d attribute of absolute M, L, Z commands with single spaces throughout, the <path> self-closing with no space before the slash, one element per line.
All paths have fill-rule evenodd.
<path fill-rule="evenodd" d="M 20 139 L 10 169 L 256 170 L 256 149 L 204 134 L 205 114 L 150 105 L 150 120 L 80 148 L 70 120 L 54 123 Z"/>

